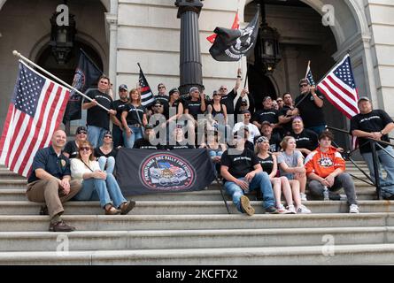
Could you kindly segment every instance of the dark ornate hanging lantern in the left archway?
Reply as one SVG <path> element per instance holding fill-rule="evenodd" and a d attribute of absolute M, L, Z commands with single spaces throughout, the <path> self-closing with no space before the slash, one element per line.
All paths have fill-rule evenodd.
<path fill-rule="evenodd" d="M 55 11 L 50 18 L 50 46 L 58 64 L 65 65 L 73 50 L 76 28 L 74 15 L 71 13 L 67 15 L 69 17 L 68 26 L 58 25 L 57 19 L 60 13 L 62 12 Z"/>

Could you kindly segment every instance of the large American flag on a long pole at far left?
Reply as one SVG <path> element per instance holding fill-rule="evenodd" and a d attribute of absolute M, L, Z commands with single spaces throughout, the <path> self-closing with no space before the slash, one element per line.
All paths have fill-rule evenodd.
<path fill-rule="evenodd" d="M 0 139 L 0 164 L 27 177 L 38 149 L 48 147 L 70 91 L 23 62 Z"/>

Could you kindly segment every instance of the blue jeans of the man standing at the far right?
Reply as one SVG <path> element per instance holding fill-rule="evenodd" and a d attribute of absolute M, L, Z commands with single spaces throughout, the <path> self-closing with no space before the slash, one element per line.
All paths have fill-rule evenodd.
<path fill-rule="evenodd" d="M 388 146 L 385 149 L 390 152 L 390 155 L 394 157 L 394 149 L 392 149 L 392 147 Z M 384 186 L 382 187 L 382 197 L 390 197 L 391 195 L 394 195 L 394 158 L 390 157 L 390 155 L 388 155 L 383 149 L 376 150 L 376 155 L 379 159 L 379 162 L 377 163 L 379 180 L 381 185 Z M 372 158 L 372 152 L 363 153 L 362 157 L 367 163 L 372 179 L 375 181 L 374 161 Z M 384 170 L 387 172 L 386 180 L 383 180 L 382 177 L 381 164 Z"/>

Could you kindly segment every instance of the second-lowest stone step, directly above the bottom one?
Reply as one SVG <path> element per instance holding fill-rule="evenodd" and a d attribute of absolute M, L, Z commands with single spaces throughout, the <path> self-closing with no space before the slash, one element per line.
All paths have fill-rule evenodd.
<path fill-rule="evenodd" d="M 208 249 L 394 243 L 394 227 L 1 232 L 0 252 L 69 250 Z M 326 239 L 326 240 L 325 240 Z"/>

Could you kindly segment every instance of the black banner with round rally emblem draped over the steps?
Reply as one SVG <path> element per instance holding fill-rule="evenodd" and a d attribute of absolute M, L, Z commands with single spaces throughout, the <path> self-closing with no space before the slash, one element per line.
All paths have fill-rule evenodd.
<path fill-rule="evenodd" d="M 206 149 L 120 149 L 116 177 L 123 195 L 203 190 L 214 180 Z"/>

